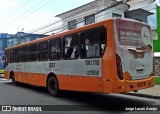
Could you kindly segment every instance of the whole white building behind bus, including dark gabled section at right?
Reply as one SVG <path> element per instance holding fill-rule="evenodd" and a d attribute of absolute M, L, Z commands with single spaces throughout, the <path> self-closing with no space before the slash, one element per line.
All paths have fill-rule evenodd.
<path fill-rule="evenodd" d="M 117 0 L 119 1 L 119 0 Z M 108 18 L 124 17 L 143 22 L 148 22 L 148 17 L 154 13 L 147 9 L 154 0 L 125 0 L 126 3 L 119 4 L 107 9 L 117 2 L 116 0 L 95 0 L 78 8 L 57 15 L 62 19 L 62 26 L 67 30 L 82 27 L 91 23 L 99 22 Z M 97 13 L 105 9 L 101 13 Z"/>

